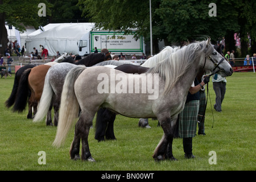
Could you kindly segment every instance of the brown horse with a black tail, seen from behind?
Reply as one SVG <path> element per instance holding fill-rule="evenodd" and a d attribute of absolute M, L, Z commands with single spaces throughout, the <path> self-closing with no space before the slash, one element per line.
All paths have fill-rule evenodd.
<path fill-rule="evenodd" d="M 28 102 L 27 118 L 32 118 L 33 114 L 36 114 L 38 102 L 43 92 L 44 78 L 50 67 L 50 65 L 39 65 L 38 67 L 28 68 L 23 72 L 19 80 L 19 88 L 13 111 L 21 113 L 26 109 Z M 30 90 L 31 96 L 29 96 Z M 32 113 L 32 108 L 34 113 Z"/>

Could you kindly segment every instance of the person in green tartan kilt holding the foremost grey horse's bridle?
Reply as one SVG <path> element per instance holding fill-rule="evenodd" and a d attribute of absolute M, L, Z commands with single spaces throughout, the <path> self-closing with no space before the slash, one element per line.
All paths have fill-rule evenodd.
<path fill-rule="evenodd" d="M 183 138 L 183 150 L 185 158 L 195 158 L 192 154 L 192 138 L 196 135 L 197 114 L 199 113 L 200 93 L 199 90 L 209 82 L 209 77 L 199 83 L 197 78 L 189 89 L 183 111 L 179 114 L 179 137 Z M 196 86 L 195 86 L 196 85 Z"/>

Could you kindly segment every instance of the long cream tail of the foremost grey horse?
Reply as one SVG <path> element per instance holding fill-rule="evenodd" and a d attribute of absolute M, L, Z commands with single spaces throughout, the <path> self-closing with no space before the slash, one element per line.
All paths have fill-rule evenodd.
<path fill-rule="evenodd" d="M 75 123 L 75 118 L 79 115 L 79 103 L 75 95 L 74 84 L 85 68 L 84 65 L 77 66 L 71 69 L 65 77 L 61 93 L 59 123 L 53 146 L 60 147 L 65 142 L 69 130 Z"/>

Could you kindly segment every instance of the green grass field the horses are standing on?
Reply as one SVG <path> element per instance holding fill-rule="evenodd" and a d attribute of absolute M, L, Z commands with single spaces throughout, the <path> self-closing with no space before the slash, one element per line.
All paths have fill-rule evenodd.
<path fill-rule="evenodd" d="M 151 129 L 138 127 L 138 119 L 117 116 L 114 123 L 117 140 L 97 142 L 94 129 L 89 134 L 90 152 L 95 163 L 69 159 L 69 147 L 73 130 L 63 147 L 52 147 L 56 127 L 46 126 L 44 121 L 32 123 L 27 119 L 27 110 L 13 113 L 4 102 L 13 88 L 13 77 L 0 79 L 0 170 L 255 170 L 255 116 L 256 73 L 234 73 L 227 77 L 227 91 L 222 112 L 210 107 L 208 99 L 205 136 L 193 138 L 195 159 L 184 159 L 182 139 L 174 139 L 173 153 L 176 162 L 156 163 L 152 154 L 163 130 L 151 121 Z M 210 100 L 213 107 L 215 94 L 209 83 Z M 214 125 L 213 124 L 214 116 Z M 95 124 L 95 123 L 93 123 Z M 39 151 L 46 152 L 46 164 L 39 164 Z M 216 152 L 216 164 L 209 164 L 210 151 Z"/>

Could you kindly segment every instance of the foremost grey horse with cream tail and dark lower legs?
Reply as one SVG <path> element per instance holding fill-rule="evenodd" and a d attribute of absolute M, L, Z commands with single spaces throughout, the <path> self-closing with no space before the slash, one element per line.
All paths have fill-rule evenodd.
<path fill-rule="evenodd" d="M 88 134 L 94 115 L 99 107 L 107 107 L 116 113 L 133 118 L 158 118 L 163 129 L 163 137 L 155 148 L 155 160 L 176 160 L 172 155 L 173 126 L 177 115 L 184 108 L 188 90 L 195 79 L 199 69 L 219 71 L 225 77 L 231 76 L 232 67 L 207 41 L 197 42 L 184 46 L 166 57 L 142 75 L 129 75 L 112 68 L 104 67 L 75 67 L 69 71 L 63 85 L 61 105 L 59 112 L 59 125 L 53 145 L 60 146 L 64 143 L 68 131 L 75 123 L 79 108 L 81 114 L 76 123 L 75 136 L 69 151 L 71 159 L 79 159 L 80 140 L 82 141 L 81 159 L 95 161 L 89 151 Z M 98 86 L 102 84 L 102 76 L 109 77 L 121 75 L 129 82 L 134 79 L 144 79 L 152 74 L 159 76 L 159 80 L 152 82 L 152 88 L 158 87 L 158 98 L 152 98 L 152 93 L 117 93 L 111 92 L 111 86 L 120 84 L 120 80 L 110 81 L 109 90 L 99 92 Z M 112 74 L 112 75 L 111 75 Z M 121 74 L 121 75 L 120 75 Z M 125 81 L 123 81 L 125 82 Z M 123 83 L 122 82 L 122 83 Z M 121 88 L 121 87 L 120 87 Z M 122 87 L 123 88 L 123 87 Z M 120 91 L 120 90 L 118 90 Z"/>

